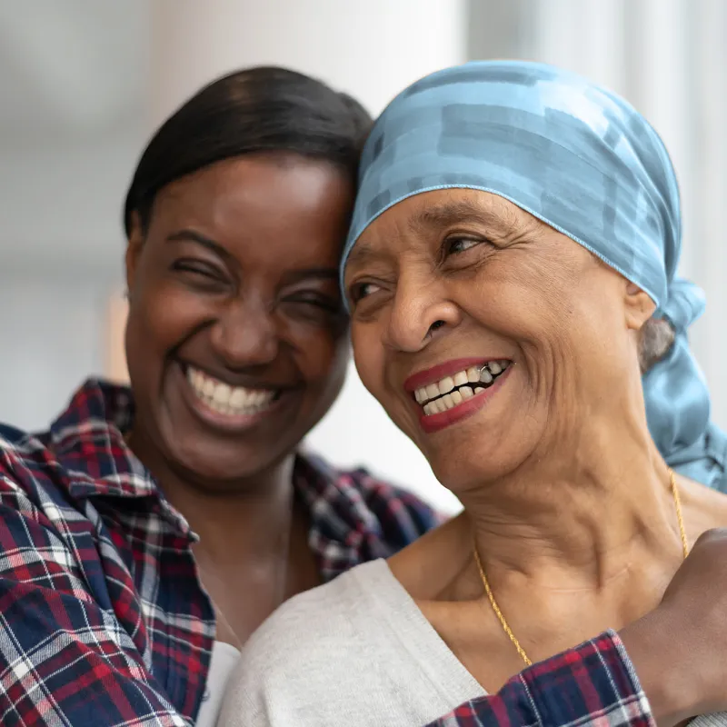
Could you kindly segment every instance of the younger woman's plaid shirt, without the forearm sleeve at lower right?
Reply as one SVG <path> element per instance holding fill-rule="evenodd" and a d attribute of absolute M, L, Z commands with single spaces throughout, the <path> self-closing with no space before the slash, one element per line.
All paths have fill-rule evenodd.
<path fill-rule="evenodd" d="M 0 724 L 194 723 L 214 640 L 195 535 L 126 447 L 128 389 L 89 381 L 47 433 L 0 425 Z M 325 581 L 437 523 L 364 471 L 299 456 Z"/>

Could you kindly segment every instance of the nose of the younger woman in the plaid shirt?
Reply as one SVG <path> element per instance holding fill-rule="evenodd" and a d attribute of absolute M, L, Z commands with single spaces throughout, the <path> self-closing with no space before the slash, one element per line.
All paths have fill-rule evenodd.
<path fill-rule="evenodd" d="M 253 297 L 225 304 L 211 335 L 214 352 L 230 369 L 270 364 L 278 354 L 274 311 Z"/>

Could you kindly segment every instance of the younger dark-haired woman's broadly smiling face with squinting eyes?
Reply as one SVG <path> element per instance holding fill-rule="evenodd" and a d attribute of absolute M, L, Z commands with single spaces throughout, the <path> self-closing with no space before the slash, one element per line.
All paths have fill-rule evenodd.
<path fill-rule="evenodd" d="M 164 187 L 126 254 L 134 439 L 228 483 L 291 453 L 348 358 L 337 264 L 352 185 L 332 164 L 250 154 Z"/>

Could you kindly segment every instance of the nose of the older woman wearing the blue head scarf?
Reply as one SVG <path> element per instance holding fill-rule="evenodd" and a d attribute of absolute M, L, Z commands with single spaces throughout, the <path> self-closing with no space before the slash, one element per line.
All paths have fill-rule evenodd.
<path fill-rule="evenodd" d="M 384 333 L 384 344 L 399 351 L 421 351 L 461 321 L 459 306 L 446 285 L 431 275 L 401 274 Z"/>

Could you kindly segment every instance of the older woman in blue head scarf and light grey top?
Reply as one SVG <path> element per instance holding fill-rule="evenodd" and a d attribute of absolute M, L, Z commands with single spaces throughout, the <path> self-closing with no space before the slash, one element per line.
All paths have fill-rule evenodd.
<path fill-rule="evenodd" d="M 423 724 L 661 602 L 727 524 L 680 230 L 658 135 L 580 77 L 470 64 L 393 101 L 342 265 L 354 354 L 464 512 L 287 603 L 229 723 Z"/>

